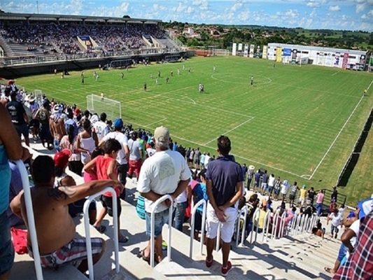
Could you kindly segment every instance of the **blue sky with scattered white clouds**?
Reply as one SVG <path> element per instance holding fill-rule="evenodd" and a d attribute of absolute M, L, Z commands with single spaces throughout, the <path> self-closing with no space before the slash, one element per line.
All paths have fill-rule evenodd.
<path fill-rule="evenodd" d="M 373 0 L 0 0 L 7 13 L 373 31 Z"/>

